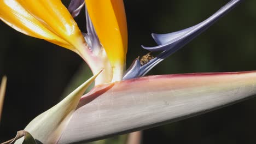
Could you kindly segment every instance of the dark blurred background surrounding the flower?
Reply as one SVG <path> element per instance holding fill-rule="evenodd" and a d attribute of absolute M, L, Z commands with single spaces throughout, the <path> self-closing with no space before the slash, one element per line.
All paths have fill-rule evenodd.
<path fill-rule="evenodd" d="M 227 2 L 125 0 L 129 29 L 127 65 L 147 53 L 141 44 L 155 45 L 150 33 L 168 33 L 193 26 Z M 84 15 L 75 20 L 85 31 Z M 256 1 L 244 1 L 149 74 L 256 70 L 255 27 Z M 3 142 L 60 100 L 83 61 L 74 52 L 16 32 L 2 21 L 0 32 L 0 77 L 8 76 L 0 124 L 0 142 Z M 256 98 L 252 98 L 144 130 L 143 143 L 256 143 L 255 104 Z"/>

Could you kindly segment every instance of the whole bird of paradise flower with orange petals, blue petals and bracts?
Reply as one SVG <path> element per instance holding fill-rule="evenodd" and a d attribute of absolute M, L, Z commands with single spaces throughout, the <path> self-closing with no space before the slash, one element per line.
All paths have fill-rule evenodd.
<path fill-rule="evenodd" d="M 77 52 L 88 63 L 95 76 L 84 85 L 98 75 L 88 94 L 67 97 L 25 130 L 42 143 L 91 141 L 178 121 L 256 94 L 256 71 L 143 77 L 238 3 L 232 0 L 207 20 L 182 31 L 152 34 L 158 46 L 143 48 L 161 53 L 143 62 L 136 58 L 125 71 L 127 26 L 122 0 L 73 0 L 68 9 L 58 0 L 1 0 L 0 18 L 5 23 Z M 72 18 L 84 5 L 88 33 L 80 32 Z M 62 114 L 55 116 L 59 111 Z"/>

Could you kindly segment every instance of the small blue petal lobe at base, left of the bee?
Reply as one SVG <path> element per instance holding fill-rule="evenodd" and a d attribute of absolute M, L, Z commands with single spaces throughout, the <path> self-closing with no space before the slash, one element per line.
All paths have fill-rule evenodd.
<path fill-rule="evenodd" d="M 139 77 L 140 71 L 141 71 L 141 62 L 139 62 L 139 57 L 138 57 L 132 62 L 130 68 L 126 70 L 123 80 Z"/>

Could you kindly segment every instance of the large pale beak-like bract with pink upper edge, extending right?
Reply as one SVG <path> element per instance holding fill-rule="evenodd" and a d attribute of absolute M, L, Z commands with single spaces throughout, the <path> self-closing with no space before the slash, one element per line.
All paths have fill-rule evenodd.
<path fill-rule="evenodd" d="M 80 99 L 59 143 L 179 121 L 256 94 L 256 71 L 148 76 L 100 85 Z"/>

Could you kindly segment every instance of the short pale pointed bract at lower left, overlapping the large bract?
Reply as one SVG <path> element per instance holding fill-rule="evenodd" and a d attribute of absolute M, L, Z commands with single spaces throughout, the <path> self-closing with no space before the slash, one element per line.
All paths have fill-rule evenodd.
<path fill-rule="evenodd" d="M 97 74 L 76 88 L 65 99 L 61 100 L 60 103 L 34 118 L 25 130 L 42 143 L 57 143 L 62 131 L 66 128 L 72 117 L 80 98 L 102 71 L 103 69 L 99 70 Z"/>

